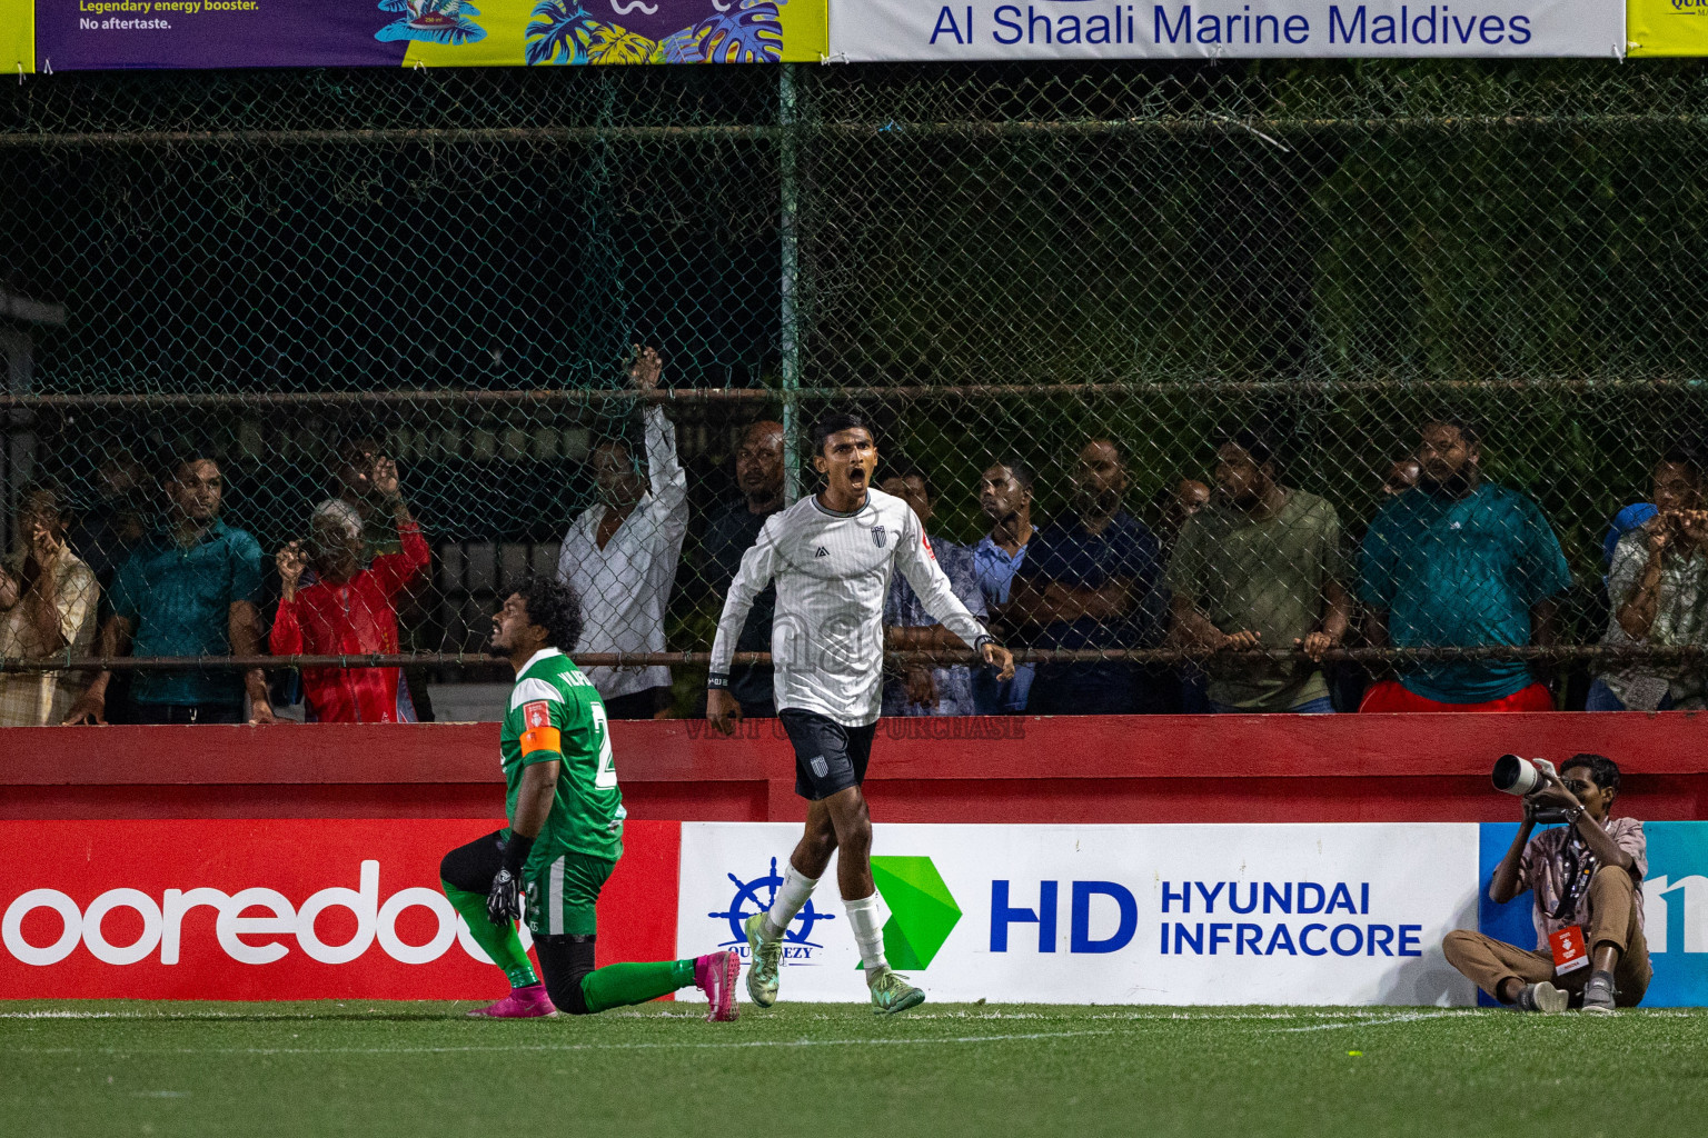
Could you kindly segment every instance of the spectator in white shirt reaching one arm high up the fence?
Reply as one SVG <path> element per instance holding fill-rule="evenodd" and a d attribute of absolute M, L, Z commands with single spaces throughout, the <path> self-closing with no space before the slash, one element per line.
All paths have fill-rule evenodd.
<path fill-rule="evenodd" d="M 658 389 L 658 351 L 646 348 L 629 375 L 635 391 Z M 656 403 L 640 404 L 647 474 L 629 447 L 601 442 L 589 462 L 600 503 L 564 534 L 557 577 L 581 595 L 579 652 L 663 652 L 664 609 L 688 532 L 688 476 L 676 459 L 676 428 Z M 651 483 L 651 485 L 649 485 Z M 611 718 L 663 718 L 670 711 L 670 669 L 589 667 L 588 679 Z"/>

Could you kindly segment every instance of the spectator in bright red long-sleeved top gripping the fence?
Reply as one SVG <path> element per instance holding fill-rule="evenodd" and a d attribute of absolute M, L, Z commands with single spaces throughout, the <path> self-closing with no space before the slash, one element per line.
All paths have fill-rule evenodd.
<path fill-rule="evenodd" d="M 273 619 L 273 655 L 398 650 L 396 599 L 427 570 L 427 541 L 398 491 L 396 464 L 381 459 L 374 485 L 391 507 L 401 551 L 383 553 L 362 568 L 362 517 L 336 498 L 316 507 L 309 551 L 297 541 L 278 551 L 284 599 Z M 311 560 L 316 580 L 299 589 Z M 415 722 L 395 667 L 306 667 L 302 689 L 314 722 Z"/>

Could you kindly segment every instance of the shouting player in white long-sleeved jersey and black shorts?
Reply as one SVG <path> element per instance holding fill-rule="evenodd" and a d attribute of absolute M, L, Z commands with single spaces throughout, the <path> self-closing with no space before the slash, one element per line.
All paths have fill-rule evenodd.
<path fill-rule="evenodd" d="M 871 488 L 878 445 L 856 415 L 813 427 L 813 466 L 825 488 L 765 520 L 729 584 L 712 643 L 705 717 L 726 735 L 741 718 L 729 694 L 729 662 L 748 607 L 777 582 L 770 653 L 777 718 L 794 744 L 794 792 L 808 800 L 806 833 L 789 856 L 777 899 L 746 921 L 748 995 L 777 1002 L 782 933 L 840 850 L 837 884 L 880 1015 L 905 1012 L 926 993 L 893 973 L 883 955 L 878 887 L 871 879 L 871 817 L 861 783 L 883 705 L 883 601 L 900 568 L 919 601 L 986 664 L 1015 674 L 1015 659 L 955 599 L 919 517 L 900 498 Z"/>

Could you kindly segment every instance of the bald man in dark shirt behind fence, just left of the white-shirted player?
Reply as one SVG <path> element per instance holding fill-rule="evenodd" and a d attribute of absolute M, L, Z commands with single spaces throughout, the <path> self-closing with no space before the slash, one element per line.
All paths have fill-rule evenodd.
<path fill-rule="evenodd" d="M 741 568 L 745 554 L 763 529 L 765 519 L 782 508 L 782 423 L 763 420 L 741 435 L 736 450 L 736 486 L 741 502 L 712 519 L 705 529 L 705 584 L 722 595 Z M 753 599 L 748 619 L 736 638 L 736 652 L 770 652 L 770 621 L 777 587 Z M 775 718 L 774 672 L 767 664 L 738 664 L 729 672 L 729 694 L 746 718 Z"/>

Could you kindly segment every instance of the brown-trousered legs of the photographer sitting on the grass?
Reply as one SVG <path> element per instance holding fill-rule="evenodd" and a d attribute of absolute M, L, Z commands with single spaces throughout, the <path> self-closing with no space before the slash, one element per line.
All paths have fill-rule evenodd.
<path fill-rule="evenodd" d="M 1590 921 L 1583 930 L 1583 943 L 1612 943 L 1619 947 L 1619 964 L 1612 983 L 1623 1008 L 1636 1007 L 1655 971 L 1648 964 L 1648 942 L 1643 940 L 1643 923 L 1636 918 L 1636 882 L 1624 870 L 1602 867 L 1590 879 Z M 1590 978 L 1590 969 L 1580 967 L 1565 976 L 1554 976 L 1554 957 L 1494 940 L 1483 933 L 1455 930 L 1442 942 L 1447 962 L 1471 978 L 1483 991 L 1494 996 L 1503 979 L 1517 976 L 1527 984 L 1547 979 L 1571 995 L 1580 995 Z M 1500 996 L 1494 996 L 1496 1000 Z"/>

